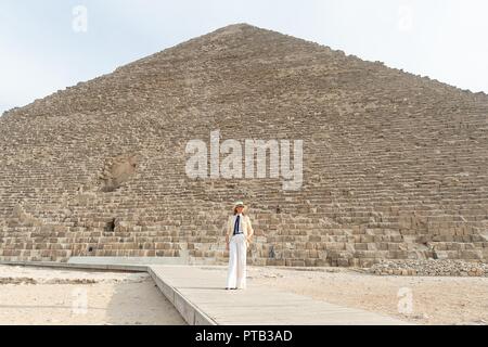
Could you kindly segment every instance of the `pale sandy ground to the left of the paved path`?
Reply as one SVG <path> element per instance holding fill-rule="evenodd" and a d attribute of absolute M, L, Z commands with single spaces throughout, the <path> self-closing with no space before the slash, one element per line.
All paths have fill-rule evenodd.
<path fill-rule="evenodd" d="M 0 266 L 0 324 L 187 324 L 146 273 Z"/>

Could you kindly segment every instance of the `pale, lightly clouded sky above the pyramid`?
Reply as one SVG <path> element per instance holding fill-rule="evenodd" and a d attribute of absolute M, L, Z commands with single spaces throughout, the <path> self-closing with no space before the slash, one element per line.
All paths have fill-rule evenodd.
<path fill-rule="evenodd" d="M 0 0 L 0 114 L 248 23 L 488 93 L 486 0 Z"/>

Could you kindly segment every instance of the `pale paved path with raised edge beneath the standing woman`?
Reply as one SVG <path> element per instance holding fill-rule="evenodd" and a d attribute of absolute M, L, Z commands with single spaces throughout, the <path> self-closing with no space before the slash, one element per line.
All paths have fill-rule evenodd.
<path fill-rule="evenodd" d="M 149 272 L 189 324 L 372 324 L 407 322 L 254 284 L 226 291 L 227 267 L 149 266 Z"/>

